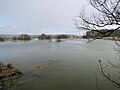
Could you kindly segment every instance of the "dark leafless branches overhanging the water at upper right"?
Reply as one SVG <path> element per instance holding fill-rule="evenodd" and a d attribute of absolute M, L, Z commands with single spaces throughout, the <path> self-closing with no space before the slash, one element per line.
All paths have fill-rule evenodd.
<path fill-rule="evenodd" d="M 96 12 L 87 17 L 83 9 L 78 17 L 80 20 L 74 21 L 77 29 L 100 33 L 101 36 L 94 37 L 94 40 L 108 37 L 120 29 L 120 0 L 89 0 L 89 3 Z M 114 28 L 105 32 L 101 31 L 110 26 Z"/>

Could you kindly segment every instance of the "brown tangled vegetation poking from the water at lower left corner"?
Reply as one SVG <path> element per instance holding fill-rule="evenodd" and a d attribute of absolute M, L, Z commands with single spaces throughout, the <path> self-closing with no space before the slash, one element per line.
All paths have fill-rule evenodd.
<path fill-rule="evenodd" d="M 0 63 L 0 88 L 4 90 L 13 90 L 18 84 L 18 79 L 23 73 L 14 67 L 12 63 L 4 65 Z"/>

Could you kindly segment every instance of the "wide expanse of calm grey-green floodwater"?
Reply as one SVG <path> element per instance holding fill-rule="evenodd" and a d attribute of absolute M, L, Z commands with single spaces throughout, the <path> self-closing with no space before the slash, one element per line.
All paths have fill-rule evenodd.
<path fill-rule="evenodd" d="M 116 60 L 114 41 L 86 41 L 1 42 L 0 61 L 24 74 L 12 90 L 119 90 L 98 71 L 98 59 Z"/>

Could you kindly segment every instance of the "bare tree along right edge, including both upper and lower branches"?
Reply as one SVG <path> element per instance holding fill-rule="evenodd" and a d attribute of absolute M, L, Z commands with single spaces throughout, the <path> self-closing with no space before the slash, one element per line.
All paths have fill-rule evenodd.
<path fill-rule="evenodd" d="M 93 34 L 95 32 L 101 34 L 100 36 L 96 35 L 92 40 L 108 37 L 120 29 L 120 0 L 89 0 L 89 3 L 95 12 L 89 16 L 85 16 L 87 14 L 83 9 L 78 18 L 74 21 L 77 29 L 84 29 L 91 32 L 93 31 Z M 104 32 L 101 30 L 106 28 L 108 29 L 110 26 L 113 28 L 109 28 L 109 30 Z M 114 40 L 118 46 L 116 51 L 120 55 L 120 45 L 115 38 Z M 120 60 L 120 56 L 117 59 Z M 113 75 L 111 75 L 106 71 L 108 65 L 103 66 L 101 60 L 98 60 L 98 62 L 99 72 L 101 75 L 111 81 L 113 85 L 120 88 L 120 64 L 113 64 L 109 61 L 108 65 L 118 69 L 117 73 L 113 73 Z"/>

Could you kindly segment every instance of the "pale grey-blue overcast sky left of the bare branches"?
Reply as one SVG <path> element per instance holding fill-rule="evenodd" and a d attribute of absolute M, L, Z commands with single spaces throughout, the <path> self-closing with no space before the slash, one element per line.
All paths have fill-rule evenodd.
<path fill-rule="evenodd" d="M 79 33 L 73 24 L 87 0 L 0 0 L 0 32 Z"/>

